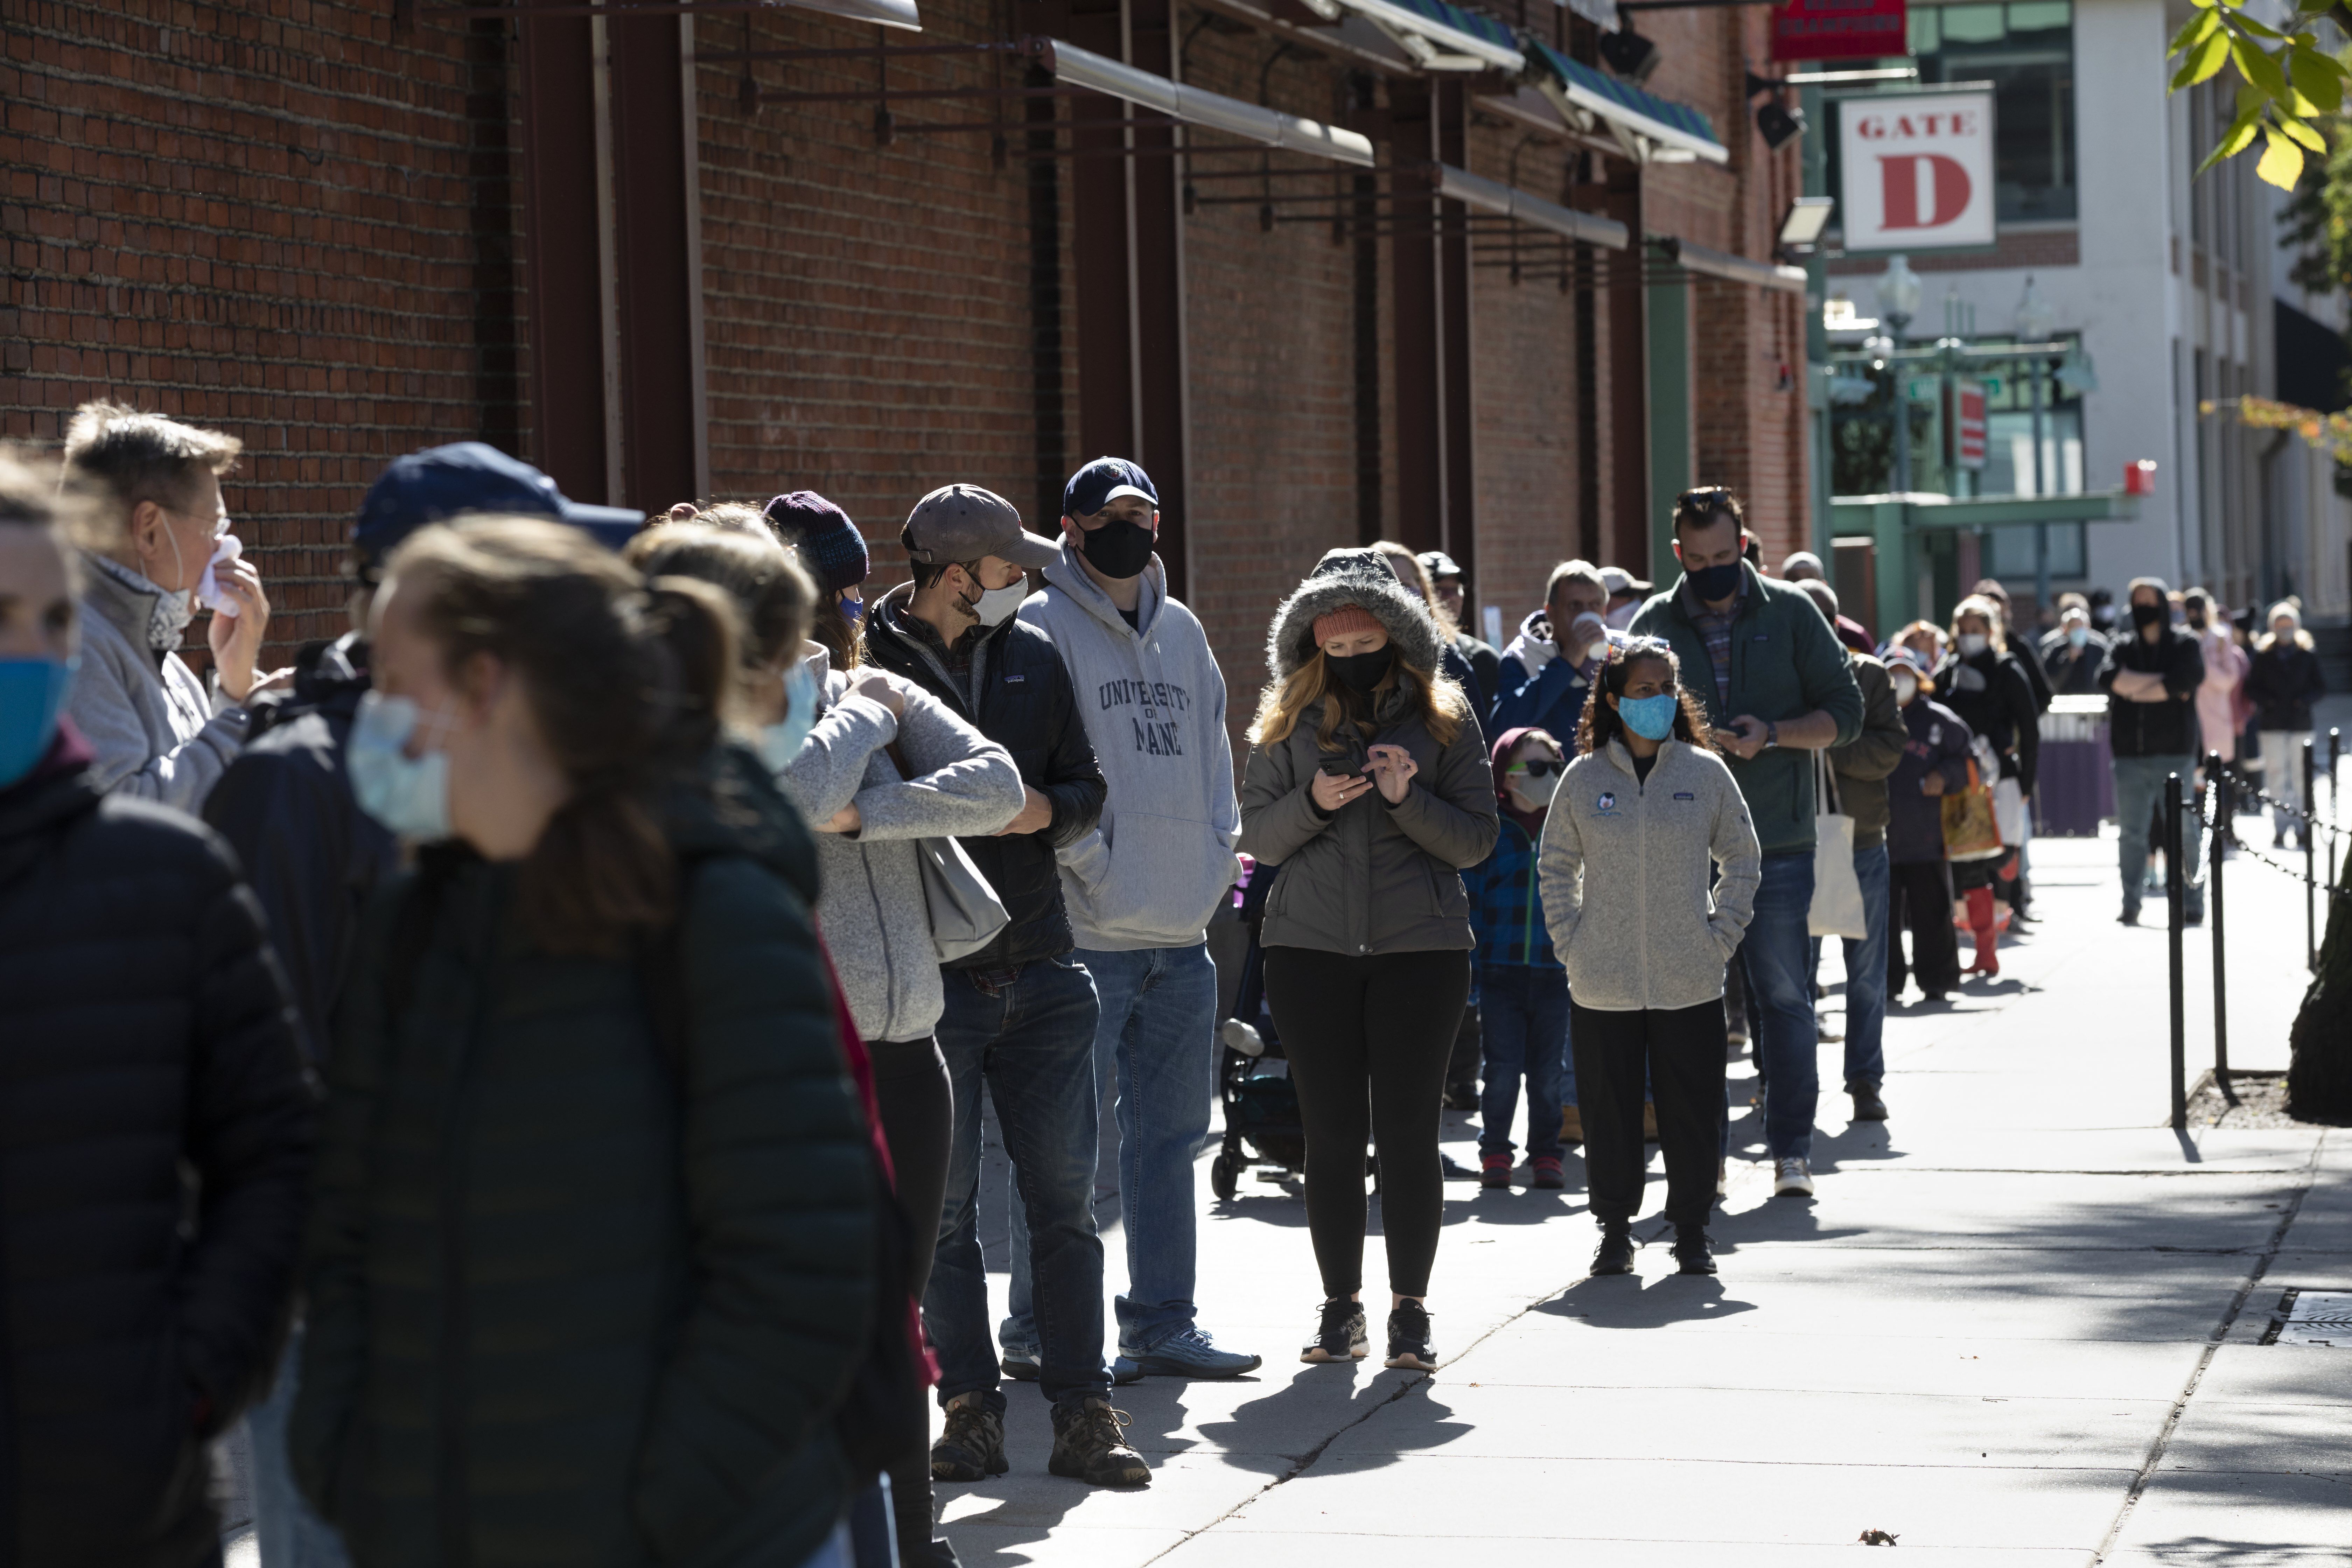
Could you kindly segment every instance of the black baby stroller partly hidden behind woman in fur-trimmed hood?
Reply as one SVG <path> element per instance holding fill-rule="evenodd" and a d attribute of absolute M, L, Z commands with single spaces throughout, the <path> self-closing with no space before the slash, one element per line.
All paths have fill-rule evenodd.
<path fill-rule="evenodd" d="M 1265 1011 L 1265 950 L 1258 945 L 1265 891 L 1279 870 L 1279 865 L 1244 870 L 1232 903 L 1209 922 L 1209 952 L 1218 961 L 1223 1001 L 1216 1027 L 1216 1098 L 1225 1110 L 1225 1138 L 1209 1161 L 1209 1192 L 1218 1199 L 1232 1199 L 1249 1166 L 1298 1173 L 1308 1157 L 1298 1091 L 1291 1086 L 1289 1060 Z"/>

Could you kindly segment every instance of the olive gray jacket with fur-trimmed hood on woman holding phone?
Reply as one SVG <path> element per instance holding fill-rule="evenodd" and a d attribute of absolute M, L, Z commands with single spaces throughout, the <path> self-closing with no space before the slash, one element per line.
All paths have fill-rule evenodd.
<path fill-rule="evenodd" d="M 1362 557 L 1362 559 L 1357 559 Z M 1397 585 L 1371 550 L 1334 550 L 1275 611 L 1268 665 L 1287 679 L 1315 656 L 1315 618 L 1357 604 L 1388 630 L 1399 658 L 1437 670 L 1439 630 L 1421 599 Z M 1315 947 L 1367 957 L 1381 952 L 1468 952 L 1470 896 L 1461 872 L 1494 851 L 1501 809 L 1479 726 L 1468 717 L 1439 745 L 1409 712 L 1399 689 L 1381 693 L 1371 741 L 1352 724 L 1334 731 L 1343 750 L 1315 738 L 1322 701 L 1310 703 L 1282 741 L 1254 745 L 1242 773 L 1240 849 L 1282 865 L 1265 900 L 1268 947 Z M 1357 771 L 1374 745 L 1402 745 L 1418 773 L 1390 806 L 1378 790 L 1324 816 L 1308 790 L 1322 766 Z"/>

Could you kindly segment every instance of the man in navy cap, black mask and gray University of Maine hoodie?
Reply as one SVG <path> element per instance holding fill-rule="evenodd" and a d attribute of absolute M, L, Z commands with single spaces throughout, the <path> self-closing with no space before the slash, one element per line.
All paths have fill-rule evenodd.
<path fill-rule="evenodd" d="M 1232 792 L 1225 675 L 1200 618 L 1169 595 L 1160 491 L 1143 468 L 1096 458 L 1061 491 L 1061 557 L 1021 621 L 1054 639 L 1103 769 L 1103 816 L 1056 851 L 1073 954 L 1103 999 L 1094 1072 L 1117 1084 L 1127 1291 L 1115 1375 L 1237 1378 L 1258 1356 L 1218 1349 L 1192 1305 L 1200 1175 L 1216 1100 L 1216 964 L 1209 914 L 1232 891 L 1242 804 Z M 1037 1366 L 1028 1227 L 1014 1213 L 1004 1366 Z"/>

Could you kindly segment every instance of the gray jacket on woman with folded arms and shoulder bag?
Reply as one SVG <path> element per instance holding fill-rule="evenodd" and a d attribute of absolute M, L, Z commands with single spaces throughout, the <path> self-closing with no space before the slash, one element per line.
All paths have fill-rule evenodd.
<path fill-rule="evenodd" d="M 1021 816 L 1028 795 L 1011 752 L 964 724 L 946 703 L 898 682 L 906 717 L 847 696 L 849 675 L 826 649 L 802 658 L 823 689 L 816 729 L 776 776 L 809 827 L 856 804 L 858 832 L 816 835 L 816 929 L 833 952 L 842 999 L 866 1039 L 922 1039 L 948 997 L 931 947 L 915 839 L 995 832 Z M 889 748 L 896 743 L 908 773 Z"/>

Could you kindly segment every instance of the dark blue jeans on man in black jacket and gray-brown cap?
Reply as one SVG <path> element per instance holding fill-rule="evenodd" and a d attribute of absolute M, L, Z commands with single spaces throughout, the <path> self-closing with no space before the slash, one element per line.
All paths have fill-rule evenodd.
<path fill-rule="evenodd" d="M 1103 1239 L 1094 1229 L 1094 980 L 1070 959 L 941 973 L 938 1051 L 955 1086 L 948 1201 L 922 1324 L 938 1349 L 938 1401 L 985 1389 L 997 1408 L 981 1260 L 981 1084 L 997 1107 L 1028 1213 L 1037 1274 L 1040 1387 L 1061 1403 L 1110 1392 L 1103 1366 Z"/>

